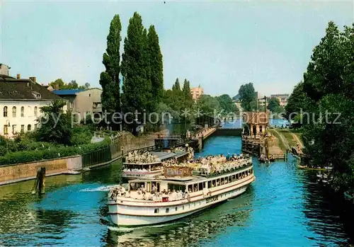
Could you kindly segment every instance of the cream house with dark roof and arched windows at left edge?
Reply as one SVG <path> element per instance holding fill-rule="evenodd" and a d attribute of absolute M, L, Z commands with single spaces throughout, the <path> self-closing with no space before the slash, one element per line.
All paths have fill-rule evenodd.
<path fill-rule="evenodd" d="M 1 69 L 1 73 L 4 71 L 6 69 Z M 35 78 L 21 79 L 20 76 L 13 78 L 0 74 L 0 134 L 11 138 L 18 133 L 35 130 L 37 119 L 42 114 L 40 108 L 50 105 L 53 100 L 61 98 L 35 83 Z"/>

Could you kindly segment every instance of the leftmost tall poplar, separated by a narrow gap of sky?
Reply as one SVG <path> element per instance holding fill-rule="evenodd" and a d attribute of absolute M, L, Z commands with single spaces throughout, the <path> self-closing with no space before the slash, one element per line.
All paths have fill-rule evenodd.
<path fill-rule="evenodd" d="M 120 112 L 120 17 L 115 15 L 110 22 L 107 36 L 107 49 L 103 54 L 105 71 L 101 72 L 100 84 L 102 86 L 101 102 L 103 110 L 109 113 Z"/>

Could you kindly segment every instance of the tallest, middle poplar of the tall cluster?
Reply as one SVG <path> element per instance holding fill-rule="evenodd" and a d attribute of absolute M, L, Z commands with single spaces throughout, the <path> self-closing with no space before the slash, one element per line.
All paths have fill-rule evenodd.
<path fill-rule="evenodd" d="M 127 37 L 122 54 L 123 97 L 125 113 L 149 112 L 152 106 L 152 82 L 149 79 L 149 52 L 147 51 L 147 30 L 142 17 L 135 12 L 129 20 Z M 139 115 L 142 120 L 142 115 Z"/>

